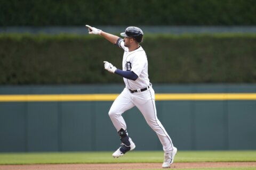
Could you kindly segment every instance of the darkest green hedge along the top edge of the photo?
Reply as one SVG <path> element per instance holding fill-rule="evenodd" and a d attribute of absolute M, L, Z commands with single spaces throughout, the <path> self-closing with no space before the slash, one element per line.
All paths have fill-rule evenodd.
<path fill-rule="evenodd" d="M 3 0 L 0 25 L 255 25 L 254 0 Z"/>

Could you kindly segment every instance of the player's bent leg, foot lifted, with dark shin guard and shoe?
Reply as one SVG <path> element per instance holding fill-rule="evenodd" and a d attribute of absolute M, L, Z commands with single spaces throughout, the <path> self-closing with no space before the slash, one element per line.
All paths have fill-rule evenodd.
<path fill-rule="evenodd" d="M 113 122 L 120 140 L 122 142 L 121 147 L 119 147 L 114 153 L 114 157 L 123 156 L 127 151 L 133 150 L 135 145 L 131 138 L 129 138 L 126 123 L 122 114 L 128 109 L 134 107 L 134 104 L 131 100 L 131 92 L 127 89 L 124 89 L 122 93 L 115 99 L 109 110 L 109 117 Z"/>

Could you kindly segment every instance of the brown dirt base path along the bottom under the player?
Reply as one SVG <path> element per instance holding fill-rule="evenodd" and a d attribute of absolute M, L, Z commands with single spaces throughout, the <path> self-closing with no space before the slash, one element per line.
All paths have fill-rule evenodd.
<path fill-rule="evenodd" d="M 171 168 L 210 168 L 210 167 L 256 167 L 256 162 L 217 162 L 217 163 L 174 163 Z M 161 169 L 162 163 L 122 163 L 122 164 L 38 164 L 38 165 L 0 165 L 4 170 L 117 170 L 117 169 Z"/>

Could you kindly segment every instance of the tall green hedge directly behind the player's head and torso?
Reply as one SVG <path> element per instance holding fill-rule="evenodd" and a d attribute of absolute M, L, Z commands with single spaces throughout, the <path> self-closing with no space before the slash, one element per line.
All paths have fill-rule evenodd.
<path fill-rule="evenodd" d="M 255 83 L 256 35 L 146 35 L 154 83 Z M 100 36 L 0 35 L 0 84 L 122 83 L 123 50 Z"/>

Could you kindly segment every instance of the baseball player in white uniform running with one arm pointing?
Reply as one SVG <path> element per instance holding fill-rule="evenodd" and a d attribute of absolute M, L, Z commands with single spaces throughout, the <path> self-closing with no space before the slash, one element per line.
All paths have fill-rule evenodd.
<path fill-rule="evenodd" d="M 124 49 L 122 69 L 117 69 L 107 61 L 103 62 L 107 71 L 121 75 L 125 83 L 124 90 L 115 99 L 108 113 L 122 142 L 121 147 L 113 153 L 113 157 L 123 156 L 127 151 L 135 148 L 134 142 L 127 133 L 122 114 L 136 106 L 150 128 L 158 135 L 165 152 L 162 167 L 169 168 L 173 163 L 177 148 L 173 146 L 171 138 L 157 118 L 155 91 L 148 79 L 147 55 L 140 46 L 143 38 L 142 30 L 138 27 L 128 27 L 125 32 L 121 33 L 121 36 L 124 37 L 122 39 L 89 25 L 86 27 L 89 29 L 89 34 L 100 35 L 110 43 Z"/>

